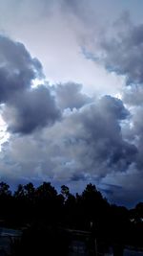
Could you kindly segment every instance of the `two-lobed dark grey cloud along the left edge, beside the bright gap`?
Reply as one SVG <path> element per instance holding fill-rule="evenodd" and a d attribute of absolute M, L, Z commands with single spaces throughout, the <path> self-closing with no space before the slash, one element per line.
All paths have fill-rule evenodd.
<path fill-rule="evenodd" d="M 31 87 L 32 80 L 43 77 L 40 61 L 22 43 L 0 35 L 0 103 L 11 132 L 30 133 L 60 118 L 50 87 Z"/>

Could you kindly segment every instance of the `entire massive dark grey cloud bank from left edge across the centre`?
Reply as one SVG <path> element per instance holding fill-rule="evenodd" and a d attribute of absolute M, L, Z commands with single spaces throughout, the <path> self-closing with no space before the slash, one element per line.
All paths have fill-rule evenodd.
<path fill-rule="evenodd" d="M 5 60 L 5 69 L 11 79 L 9 83 L 1 69 L 5 88 L 1 114 L 11 135 L 2 145 L 2 177 L 100 184 L 110 175 L 112 180 L 112 174 L 126 174 L 133 165 L 139 166 L 138 145 L 123 132 L 131 113 L 121 100 L 89 97 L 82 84 L 72 81 L 33 87 L 34 79 L 44 77 L 41 63 L 22 44 L 4 39 L 15 52 L 18 47 L 19 58 L 10 56 L 12 47 L 6 54 L 3 51 L 10 59 Z"/>

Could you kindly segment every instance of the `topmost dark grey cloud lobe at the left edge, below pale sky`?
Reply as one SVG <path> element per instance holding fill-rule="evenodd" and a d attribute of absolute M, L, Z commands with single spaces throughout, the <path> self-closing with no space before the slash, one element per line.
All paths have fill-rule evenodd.
<path fill-rule="evenodd" d="M 31 81 L 43 76 L 42 65 L 22 43 L 0 35 L 0 102 L 31 86 Z"/>

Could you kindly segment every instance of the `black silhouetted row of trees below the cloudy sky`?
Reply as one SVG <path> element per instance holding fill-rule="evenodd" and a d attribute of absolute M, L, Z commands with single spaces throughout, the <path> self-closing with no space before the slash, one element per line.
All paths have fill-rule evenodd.
<path fill-rule="evenodd" d="M 0 219 L 5 226 L 36 227 L 42 232 L 54 228 L 89 230 L 99 244 L 143 247 L 143 202 L 131 210 L 112 205 L 91 183 L 81 195 L 72 195 L 65 185 L 57 193 L 50 182 L 37 188 L 32 183 L 20 184 L 11 193 L 10 186 L 1 182 Z"/>

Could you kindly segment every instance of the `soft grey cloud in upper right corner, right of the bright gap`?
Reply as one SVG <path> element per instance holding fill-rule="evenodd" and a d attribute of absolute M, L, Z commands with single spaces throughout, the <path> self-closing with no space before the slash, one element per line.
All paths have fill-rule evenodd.
<path fill-rule="evenodd" d="M 126 16 L 122 16 L 122 21 L 114 23 L 111 35 L 100 34 L 99 54 L 88 54 L 87 49 L 87 55 L 93 61 L 101 61 L 109 71 L 126 76 L 129 85 L 143 82 L 143 25 L 133 25 L 129 18 L 128 26 L 126 22 Z"/>

